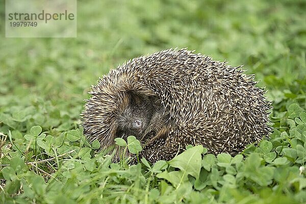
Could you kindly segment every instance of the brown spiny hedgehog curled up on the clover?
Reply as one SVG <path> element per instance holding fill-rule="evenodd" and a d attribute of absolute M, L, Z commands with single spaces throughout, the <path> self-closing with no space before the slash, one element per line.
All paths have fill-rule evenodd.
<path fill-rule="evenodd" d="M 171 160 L 187 145 L 237 155 L 271 131 L 266 91 L 244 72 L 186 48 L 134 58 L 91 86 L 84 135 L 101 150 L 133 135 L 143 147 L 139 156 L 151 163 Z"/>

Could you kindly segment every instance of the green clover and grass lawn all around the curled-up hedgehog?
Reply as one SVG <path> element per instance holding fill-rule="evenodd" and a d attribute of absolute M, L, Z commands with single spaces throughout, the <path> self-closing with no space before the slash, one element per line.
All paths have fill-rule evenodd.
<path fill-rule="evenodd" d="M 79 1 L 77 38 L 5 38 L 1 7 L 0 203 L 306 202 L 305 10 L 304 1 Z M 98 144 L 78 124 L 90 85 L 170 47 L 256 73 L 273 101 L 271 138 L 244 157 L 193 147 L 153 166 L 93 154 Z"/>

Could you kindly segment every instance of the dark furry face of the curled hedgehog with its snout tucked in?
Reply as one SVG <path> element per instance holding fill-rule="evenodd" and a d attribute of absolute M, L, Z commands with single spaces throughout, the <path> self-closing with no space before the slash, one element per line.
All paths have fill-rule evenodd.
<path fill-rule="evenodd" d="M 126 139 L 133 135 L 143 143 L 156 134 L 152 127 L 161 111 L 159 100 L 156 97 L 145 98 L 133 93 L 127 94 L 126 100 L 126 107 L 116 119 L 116 137 Z"/>

